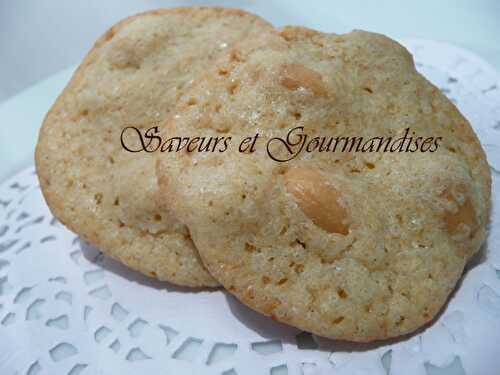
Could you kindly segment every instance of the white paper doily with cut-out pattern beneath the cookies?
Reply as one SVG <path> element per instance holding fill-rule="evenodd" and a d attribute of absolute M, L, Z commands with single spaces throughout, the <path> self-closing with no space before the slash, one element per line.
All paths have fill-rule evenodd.
<path fill-rule="evenodd" d="M 493 173 L 488 242 L 432 325 L 382 343 L 331 341 L 222 290 L 147 279 L 59 224 L 29 168 L 0 186 L 0 374 L 498 375 L 500 80 L 464 50 L 403 43 L 471 121 Z"/>

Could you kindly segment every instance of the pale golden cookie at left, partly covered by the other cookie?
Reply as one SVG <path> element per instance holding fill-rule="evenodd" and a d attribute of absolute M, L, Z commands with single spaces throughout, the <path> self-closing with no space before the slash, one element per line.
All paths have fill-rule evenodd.
<path fill-rule="evenodd" d="M 178 8 L 132 16 L 107 31 L 40 131 L 36 167 L 54 216 L 148 276 L 186 286 L 217 285 L 186 227 L 168 207 L 157 205 L 154 154 L 124 147 L 137 150 L 139 138 L 131 127 L 143 134 L 163 121 L 216 56 L 269 28 L 241 10 Z"/>

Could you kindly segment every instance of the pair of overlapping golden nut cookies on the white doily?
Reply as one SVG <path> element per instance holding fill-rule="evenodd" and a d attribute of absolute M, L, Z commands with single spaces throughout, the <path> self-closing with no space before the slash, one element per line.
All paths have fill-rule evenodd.
<path fill-rule="evenodd" d="M 152 124 L 165 137 L 258 133 L 260 144 L 123 148 L 126 127 Z M 290 128 L 311 138 L 410 128 L 441 144 L 277 162 L 269 141 Z M 110 29 L 47 114 L 36 165 L 53 214 L 129 267 L 220 283 L 276 320 L 352 341 L 431 321 L 484 242 L 490 210 L 477 137 L 402 46 L 363 31 L 274 29 L 240 10 L 160 10 Z"/>

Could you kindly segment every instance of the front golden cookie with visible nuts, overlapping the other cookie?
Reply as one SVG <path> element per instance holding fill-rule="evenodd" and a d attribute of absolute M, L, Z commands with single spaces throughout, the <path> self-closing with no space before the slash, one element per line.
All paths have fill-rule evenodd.
<path fill-rule="evenodd" d="M 231 137 L 225 152 L 161 153 L 161 195 L 229 292 L 317 335 L 416 330 L 485 239 L 476 135 L 382 35 L 289 27 L 237 44 L 164 132 Z"/>

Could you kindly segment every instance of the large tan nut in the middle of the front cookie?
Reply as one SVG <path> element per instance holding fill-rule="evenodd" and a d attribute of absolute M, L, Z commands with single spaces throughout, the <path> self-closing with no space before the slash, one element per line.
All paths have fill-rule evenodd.
<path fill-rule="evenodd" d="M 329 233 L 347 235 L 347 210 L 339 203 L 340 192 L 315 169 L 292 168 L 284 175 L 285 188 L 302 212 Z"/>

